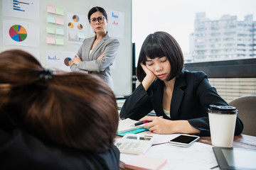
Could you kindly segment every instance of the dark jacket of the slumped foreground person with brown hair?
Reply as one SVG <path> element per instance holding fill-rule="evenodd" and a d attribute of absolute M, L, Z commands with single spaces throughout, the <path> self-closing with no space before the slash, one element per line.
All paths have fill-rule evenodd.
<path fill-rule="evenodd" d="M 0 128 L 0 169 L 119 169 L 119 150 L 87 153 L 60 146 L 46 145 L 21 130 L 8 132 Z"/>

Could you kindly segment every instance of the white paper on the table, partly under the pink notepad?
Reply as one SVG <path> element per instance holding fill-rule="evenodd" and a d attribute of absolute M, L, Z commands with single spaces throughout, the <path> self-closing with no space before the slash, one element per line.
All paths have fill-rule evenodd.
<path fill-rule="evenodd" d="M 194 142 L 190 147 L 176 147 L 169 144 L 154 145 L 145 154 L 153 157 L 166 158 L 167 164 L 161 170 L 200 170 L 218 166 L 212 146 L 201 142 Z M 120 161 L 125 164 L 134 157 L 136 156 L 132 154 L 120 154 Z"/>

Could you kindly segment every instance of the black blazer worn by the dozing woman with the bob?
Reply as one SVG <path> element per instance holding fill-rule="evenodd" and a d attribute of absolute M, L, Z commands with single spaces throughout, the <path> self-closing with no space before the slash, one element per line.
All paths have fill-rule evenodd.
<path fill-rule="evenodd" d="M 200 130 L 198 135 L 210 136 L 208 108 L 210 104 L 228 106 L 216 89 L 210 86 L 207 75 L 203 72 L 183 70 L 176 77 L 169 118 L 163 111 L 164 81 L 156 79 L 145 91 L 142 84 L 127 98 L 120 111 L 120 118 L 139 120 L 152 110 L 157 116 L 169 120 L 188 120 L 194 128 Z M 242 132 L 242 121 L 237 118 L 235 135 Z"/>

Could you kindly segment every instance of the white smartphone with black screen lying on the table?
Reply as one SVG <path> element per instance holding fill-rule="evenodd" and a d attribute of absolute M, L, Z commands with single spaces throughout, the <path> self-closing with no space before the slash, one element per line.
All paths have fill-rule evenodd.
<path fill-rule="evenodd" d="M 179 147 L 189 147 L 193 142 L 200 140 L 200 137 L 194 135 L 179 135 L 173 140 L 170 140 L 171 145 L 176 145 Z"/>

